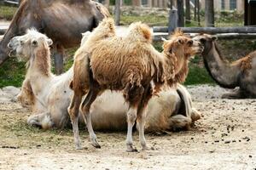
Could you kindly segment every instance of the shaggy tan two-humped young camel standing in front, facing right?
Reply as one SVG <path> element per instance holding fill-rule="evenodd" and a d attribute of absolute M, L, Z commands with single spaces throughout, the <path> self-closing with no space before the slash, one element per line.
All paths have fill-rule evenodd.
<path fill-rule="evenodd" d="M 160 91 L 164 82 L 168 86 L 183 82 L 188 73 L 189 56 L 202 51 L 200 42 L 194 42 L 177 31 L 171 40 L 164 43 L 164 52 L 160 54 L 151 44 L 152 35 L 148 26 L 135 23 L 129 29 L 126 37 L 117 37 L 113 20 L 105 19 L 75 54 L 71 83 L 74 94 L 68 111 L 77 149 L 81 149 L 79 106 L 87 92 L 81 112 L 91 144 L 101 147 L 91 125 L 90 105 L 106 89 L 122 91 L 129 105 L 126 150 L 136 151 L 132 144 L 132 127 L 136 120 L 140 143 L 143 150 L 148 149 L 144 137 L 148 100 Z"/>

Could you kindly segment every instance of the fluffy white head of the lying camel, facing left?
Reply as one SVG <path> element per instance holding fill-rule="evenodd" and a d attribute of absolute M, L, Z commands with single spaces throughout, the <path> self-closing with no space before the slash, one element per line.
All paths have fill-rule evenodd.
<path fill-rule="evenodd" d="M 8 47 L 11 49 L 11 54 L 15 54 L 19 60 L 28 61 L 43 47 L 49 49 L 52 43 L 49 37 L 32 28 L 27 30 L 23 36 L 13 37 Z"/>

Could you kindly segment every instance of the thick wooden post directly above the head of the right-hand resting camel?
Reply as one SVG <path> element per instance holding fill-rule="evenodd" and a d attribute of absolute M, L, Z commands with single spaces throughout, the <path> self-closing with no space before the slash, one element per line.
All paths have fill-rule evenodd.
<path fill-rule="evenodd" d="M 205 0 L 206 1 L 206 26 L 207 27 L 214 27 L 214 2 L 212 0 Z"/>

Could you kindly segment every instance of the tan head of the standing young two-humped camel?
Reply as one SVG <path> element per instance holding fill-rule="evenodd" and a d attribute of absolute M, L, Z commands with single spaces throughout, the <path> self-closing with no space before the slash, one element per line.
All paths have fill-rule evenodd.
<path fill-rule="evenodd" d="M 172 60 L 176 73 L 181 71 L 184 65 L 187 65 L 189 57 L 201 54 L 203 51 L 201 42 L 191 39 L 179 30 L 175 31 L 169 40 L 163 40 L 163 53 L 167 59 Z"/>

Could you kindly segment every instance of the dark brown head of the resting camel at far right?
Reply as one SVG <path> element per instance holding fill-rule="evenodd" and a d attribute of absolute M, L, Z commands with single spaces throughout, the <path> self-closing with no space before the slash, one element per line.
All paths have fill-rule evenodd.
<path fill-rule="evenodd" d="M 193 40 L 201 42 L 204 47 L 202 54 L 207 54 L 212 48 L 212 42 L 218 38 L 209 34 L 199 34 L 198 36 L 193 37 Z"/>

